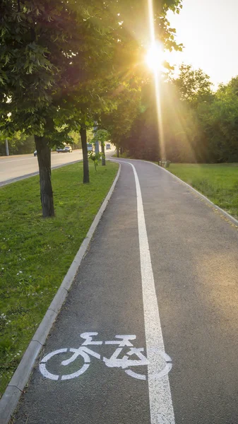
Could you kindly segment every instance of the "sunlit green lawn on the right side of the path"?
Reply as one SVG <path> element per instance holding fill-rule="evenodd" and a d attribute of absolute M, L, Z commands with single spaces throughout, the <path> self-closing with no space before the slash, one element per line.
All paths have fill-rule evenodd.
<path fill-rule="evenodd" d="M 171 163 L 168 170 L 238 218 L 238 163 Z"/>

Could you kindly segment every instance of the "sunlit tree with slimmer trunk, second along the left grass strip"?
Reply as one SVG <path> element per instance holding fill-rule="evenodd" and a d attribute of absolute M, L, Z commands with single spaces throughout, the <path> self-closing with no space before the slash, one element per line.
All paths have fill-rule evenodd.
<path fill-rule="evenodd" d="M 165 43 L 165 47 L 169 49 L 180 49 L 181 47 L 177 46 L 174 41 L 175 30 L 169 27 L 166 13 L 169 8 L 178 12 L 180 7 L 180 0 L 170 1 L 169 6 L 167 6 L 165 1 L 155 1 L 155 32 Z M 141 13 L 144 3 L 136 0 L 130 2 L 125 0 L 108 1 L 105 8 L 109 11 L 110 29 L 107 28 L 107 34 L 111 37 L 112 49 L 107 51 L 107 58 L 110 55 L 111 61 L 104 60 L 103 66 L 101 64 L 101 78 L 97 79 L 96 84 L 90 82 L 90 90 L 88 83 L 86 83 L 80 86 L 80 92 L 75 95 L 76 115 L 81 115 L 79 118 L 75 116 L 74 119 L 78 120 L 81 125 L 83 182 L 89 182 L 88 155 L 86 151 L 87 128 L 93 126 L 95 119 L 101 121 L 101 128 L 110 129 L 114 143 L 119 145 L 119 141 L 116 142 L 116 138 L 119 140 L 119 136 L 122 135 L 121 131 L 126 134 L 128 130 L 125 117 L 123 124 L 120 126 L 121 131 L 118 131 L 117 121 L 120 109 L 119 104 L 121 103 L 121 99 L 118 99 L 118 96 L 120 90 L 121 88 L 125 90 L 126 86 L 133 83 L 134 87 L 137 86 L 134 91 L 138 90 L 139 92 L 141 86 L 138 81 L 145 77 L 145 70 L 141 64 L 144 54 L 141 42 L 143 41 L 145 45 L 148 45 L 148 34 L 150 32 L 148 29 L 148 18 L 145 13 Z M 114 19 L 114 16 L 119 17 Z M 135 19 L 134 16 L 137 16 L 137 18 Z M 108 25 L 108 21 L 105 18 L 103 20 Z M 138 28 L 140 29 L 138 30 Z M 145 34 L 141 34 L 141 28 L 146 29 Z M 90 97 L 88 93 L 91 94 Z M 117 110 L 117 118 L 115 110 Z M 127 114 L 130 114 L 128 110 Z M 106 116 L 111 121 L 109 126 L 108 119 L 105 119 Z M 112 124 L 113 117 L 115 119 Z M 113 128 L 114 131 L 112 130 Z M 102 160 L 102 163 L 104 163 L 104 160 Z"/>

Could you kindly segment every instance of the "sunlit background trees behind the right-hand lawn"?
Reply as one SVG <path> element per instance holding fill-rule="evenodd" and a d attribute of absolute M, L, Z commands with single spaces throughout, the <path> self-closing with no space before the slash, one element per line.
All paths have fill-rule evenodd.
<path fill-rule="evenodd" d="M 126 137 L 117 142 L 135 158 L 162 159 L 163 147 L 167 159 L 174 162 L 236 162 L 237 93 L 238 77 L 213 91 L 206 73 L 182 64 L 177 77 L 161 83 L 163 139 L 157 128 L 154 89 L 148 83 L 141 112 Z"/>

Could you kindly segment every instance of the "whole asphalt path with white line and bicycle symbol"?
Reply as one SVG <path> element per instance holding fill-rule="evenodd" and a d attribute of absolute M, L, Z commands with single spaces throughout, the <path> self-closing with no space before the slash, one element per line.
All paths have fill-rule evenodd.
<path fill-rule="evenodd" d="M 237 424 L 237 229 L 125 162 L 14 423 Z"/>

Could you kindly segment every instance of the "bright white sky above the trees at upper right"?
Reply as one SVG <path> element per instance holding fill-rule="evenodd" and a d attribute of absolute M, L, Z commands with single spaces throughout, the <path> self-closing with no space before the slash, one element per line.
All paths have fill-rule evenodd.
<path fill-rule="evenodd" d="M 184 52 L 166 54 L 169 64 L 191 64 L 208 73 L 215 88 L 238 75 L 238 0 L 183 0 L 168 13 Z"/>

